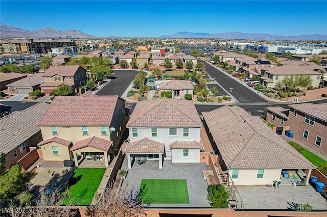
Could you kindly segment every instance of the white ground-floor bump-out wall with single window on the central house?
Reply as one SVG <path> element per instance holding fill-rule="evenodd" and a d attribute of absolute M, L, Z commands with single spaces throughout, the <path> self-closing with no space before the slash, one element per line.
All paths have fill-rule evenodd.
<path fill-rule="evenodd" d="M 183 157 L 182 148 L 172 148 L 172 163 L 199 163 L 200 149 L 190 148 L 189 157 Z"/>

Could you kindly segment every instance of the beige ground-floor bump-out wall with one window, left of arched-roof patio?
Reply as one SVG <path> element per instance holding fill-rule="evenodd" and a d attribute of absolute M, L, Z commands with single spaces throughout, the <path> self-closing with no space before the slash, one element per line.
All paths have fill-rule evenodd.
<path fill-rule="evenodd" d="M 59 155 L 53 155 L 52 148 L 51 148 L 52 146 L 58 147 Z M 52 142 L 52 143 L 42 145 L 42 146 L 40 146 L 40 148 L 43 153 L 43 160 L 63 161 L 63 160 L 71 159 L 71 156 L 69 155 L 70 147 L 68 147 L 68 146 Z"/>

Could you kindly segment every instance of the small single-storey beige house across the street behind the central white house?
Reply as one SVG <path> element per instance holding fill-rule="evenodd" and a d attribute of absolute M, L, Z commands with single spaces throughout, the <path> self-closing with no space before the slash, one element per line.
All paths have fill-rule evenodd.
<path fill-rule="evenodd" d="M 160 92 L 172 91 L 173 98 L 183 99 L 185 94 L 193 95 L 193 85 L 186 80 L 169 80 L 160 84 Z"/>

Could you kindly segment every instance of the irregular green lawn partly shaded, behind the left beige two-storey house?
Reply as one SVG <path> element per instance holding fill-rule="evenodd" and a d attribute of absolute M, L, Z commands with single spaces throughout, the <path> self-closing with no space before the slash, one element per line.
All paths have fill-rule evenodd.
<path fill-rule="evenodd" d="M 106 168 L 77 168 L 69 180 L 69 194 L 78 205 L 90 205 Z"/>

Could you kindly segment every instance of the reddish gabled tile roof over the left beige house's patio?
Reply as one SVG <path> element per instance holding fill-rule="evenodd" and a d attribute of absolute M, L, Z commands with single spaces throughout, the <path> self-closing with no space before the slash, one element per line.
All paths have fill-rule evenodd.
<path fill-rule="evenodd" d="M 93 147 L 103 151 L 109 151 L 111 145 L 112 141 L 93 136 L 85 140 L 80 140 L 76 142 L 71 148 L 71 151 L 75 151 L 85 147 Z"/>

